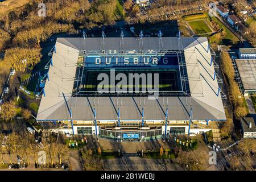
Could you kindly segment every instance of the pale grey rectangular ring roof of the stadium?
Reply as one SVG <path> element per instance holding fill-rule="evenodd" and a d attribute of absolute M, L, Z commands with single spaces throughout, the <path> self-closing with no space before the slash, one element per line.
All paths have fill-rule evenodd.
<path fill-rule="evenodd" d="M 125 49 L 139 49 L 137 38 L 124 39 Z M 119 49 L 120 38 L 104 40 L 105 50 Z M 147 97 L 119 97 L 118 102 L 117 97 L 71 97 L 79 51 L 100 50 L 102 39 L 58 38 L 55 45 L 56 53 L 53 52 L 52 56 L 53 67 L 49 68 L 49 81 L 46 81 L 44 87 L 46 97 L 42 96 L 36 119 L 69 120 L 62 95 L 64 93 L 74 120 L 91 121 L 93 108 L 96 109 L 97 119 L 116 120 L 118 107 L 122 120 L 140 120 L 142 107 L 146 120 L 164 119 L 166 108 L 170 120 L 188 120 L 191 107 L 193 120 L 225 120 L 221 94 L 217 94 L 217 79 L 213 78 L 214 67 L 210 64 L 210 51 L 207 51 L 207 38 L 180 38 L 180 43 L 178 38 L 163 37 L 162 40 L 163 49 L 166 50 L 177 50 L 178 44 L 182 45 L 191 97 L 159 97 L 158 100 L 148 100 Z M 144 49 L 159 49 L 159 38 L 143 38 L 143 44 Z M 139 101 L 140 99 L 143 101 Z"/>

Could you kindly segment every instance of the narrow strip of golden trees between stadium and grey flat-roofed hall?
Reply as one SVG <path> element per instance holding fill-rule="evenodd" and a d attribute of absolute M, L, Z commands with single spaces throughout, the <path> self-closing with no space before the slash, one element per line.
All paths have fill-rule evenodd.
<path fill-rule="evenodd" d="M 245 117 L 247 111 L 245 105 L 243 104 L 244 98 L 238 88 L 237 82 L 234 80 L 235 73 L 229 53 L 221 52 L 221 60 L 221 66 L 229 84 L 229 99 L 230 101 L 232 101 L 232 104 L 234 106 L 234 115 L 237 119 Z"/>

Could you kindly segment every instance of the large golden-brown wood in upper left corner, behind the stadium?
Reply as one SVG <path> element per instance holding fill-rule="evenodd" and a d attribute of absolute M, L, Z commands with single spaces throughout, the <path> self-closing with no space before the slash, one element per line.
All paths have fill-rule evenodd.
<path fill-rule="evenodd" d="M 41 2 L 32 0 L 0 18 L 0 51 L 14 46 L 39 46 L 52 34 L 76 33 L 74 25 L 92 28 L 113 24 L 117 6 L 116 0 L 47 0 L 46 17 L 40 17 Z"/>

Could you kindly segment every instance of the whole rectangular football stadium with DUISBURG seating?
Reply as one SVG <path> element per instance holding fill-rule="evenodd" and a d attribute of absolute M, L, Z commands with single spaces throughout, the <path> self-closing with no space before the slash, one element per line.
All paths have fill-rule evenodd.
<path fill-rule="evenodd" d="M 200 134 L 211 130 L 210 122 L 225 121 L 207 38 L 159 35 L 57 38 L 36 121 L 62 123 L 57 132 L 64 134 L 116 140 Z M 110 84 L 101 84 L 101 73 Z M 141 80 L 132 77 L 118 91 L 119 74 Z M 158 80 L 143 84 L 155 74 Z"/>

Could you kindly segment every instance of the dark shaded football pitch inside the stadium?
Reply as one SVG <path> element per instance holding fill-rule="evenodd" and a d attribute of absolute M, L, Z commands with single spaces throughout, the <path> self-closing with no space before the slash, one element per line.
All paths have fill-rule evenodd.
<path fill-rule="evenodd" d="M 103 79 L 100 74 L 105 73 L 105 76 L 108 76 L 108 83 L 109 84 L 102 84 Z M 122 73 L 122 77 L 125 76 L 126 78 L 117 78 L 118 74 Z M 152 77 L 150 76 L 151 73 Z M 157 75 L 156 75 L 157 74 Z M 102 74 L 101 74 L 102 75 Z M 154 88 L 154 85 L 158 85 L 160 92 L 170 92 L 170 91 L 180 91 L 181 90 L 181 84 L 180 84 L 180 76 L 179 71 L 176 69 L 133 69 L 133 70 L 127 70 L 127 69 L 116 69 L 113 75 L 110 76 L 110 70 L 86 70 L 84 72 L 84 75 L 82 77 L 81 85 L 80 85 L 80 91 L 83 92 L 97 92 L 99 88 L 104 89 L 113 88 L 113 86 L 118 86 L 118 83 L 120 81 L 123 81 L 122 84 L 119 83 L 118 88 L 120 89 L 127 89 L 130 90 L 133 88 L 135 92 L 135 88 L 139 88 L 139 91 L 142 91 L 143 89 L 148 88 Z M 133 77 L 129 77 L 133 76 Z M 100 78 L 101 77 L 101 78 Z M 146 78 L 144 82 L 142 82 L 143 77 Z M 115 85 L 112 85 L 110 83 L 110 79 L 115 80 Z M 151 81 L 151 84 L 148 84 L 148 80 Z M 105 81 L 105 80 L 104 80 Z M 155 83 L 156 81 L 156 83 Z M 157 83 L 158 81 L 158 83 Z M 132 84 L 131 84 L 132 83 Z M 146 83 L 146 84 L 145 84 Z"/>

